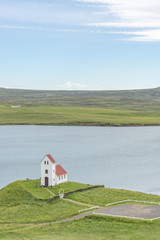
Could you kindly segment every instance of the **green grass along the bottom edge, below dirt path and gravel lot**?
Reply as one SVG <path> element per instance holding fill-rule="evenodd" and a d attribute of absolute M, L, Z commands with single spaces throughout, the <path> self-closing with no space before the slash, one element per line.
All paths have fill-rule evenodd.
<path fill-rule="evenodd" d="M 47 226 L 0 227 L 5 240 L 159 240 L 160 224 L 138 220 L 91 216 L 84 219 Z"/>

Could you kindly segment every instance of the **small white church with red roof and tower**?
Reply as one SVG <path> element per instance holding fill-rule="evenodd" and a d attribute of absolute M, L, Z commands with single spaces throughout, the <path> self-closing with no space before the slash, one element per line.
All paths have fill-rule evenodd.
<path fill-rule="evenodd" d="M 41 185 L 54 186 L 64 182 L 67 182 L 67 172 L 47 154 L 41 161 Z"/>

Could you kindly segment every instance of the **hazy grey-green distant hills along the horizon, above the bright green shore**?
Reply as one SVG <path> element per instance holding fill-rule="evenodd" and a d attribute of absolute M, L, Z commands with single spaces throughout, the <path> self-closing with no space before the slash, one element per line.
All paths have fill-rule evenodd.
<path fill-rule="evenodd" d="M 50 91 L 0 88 L 0 103 L 52 106 L 96 106 L 132 102 L 159 102 L 160 88 L 117 91 Z"/>

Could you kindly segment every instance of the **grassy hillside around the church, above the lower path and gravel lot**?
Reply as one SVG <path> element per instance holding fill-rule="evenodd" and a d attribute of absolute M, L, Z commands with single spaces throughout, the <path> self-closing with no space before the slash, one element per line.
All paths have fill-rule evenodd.
<path fill-rule="evenodd" d="M 65 193 L 68 193 L 78 189 L 86 189 L 90 186 L 76 182 L 66 182 L 52 188 L 48 187 L 48 191 L 47 188 L 40 186 L 39 179 L 13 182 L 0 189 L 0 222 L 55 221 L 77 215 L 78 210 L 86 208 L 88 204 L 104 207 L 108 203 L 126 199 L 160 202 L 160 196 L 157 195 L 102 187 L 67 195 L 65 199 L 69 201 L 61 199 L 56 199 L 52 202 L 47 201 L 47 199 L 53 198 L 53 195 L 59 195 L 60 188 L 64 189 Z M 82 203 L 82 205 L 75 203 Z M 58 210 L 58 215 L 55 207 Z M 51 212 L 52 214 L 50 214 Z"/>

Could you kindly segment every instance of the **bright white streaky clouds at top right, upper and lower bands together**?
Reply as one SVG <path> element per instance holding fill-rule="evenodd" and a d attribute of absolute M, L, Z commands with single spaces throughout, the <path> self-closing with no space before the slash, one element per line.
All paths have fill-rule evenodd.
<path fill-rule="evenodd" d="M 97 28 L 114 28 L 112 34 L 133 35 L 132 41 L 160 41 L 160 1 L 159 0 L 77 0 L 83 3 L 103 4 L 107 11 L 106 21 L 94 21 L 88 26 Z M 108 17 L 110 15 L 110 18 Z M 112 17 L 111 17 L 112 16 Z M 126 28 L 128 31 L 118 31 Z M 129 31 L 129 29 L 143 29 Z M 145 29 L 145 30 L 144 30 Z M 111 32 L 108 32 L 111 33 Z M 136 36 L 135 36 L 136 35 Z"/>

